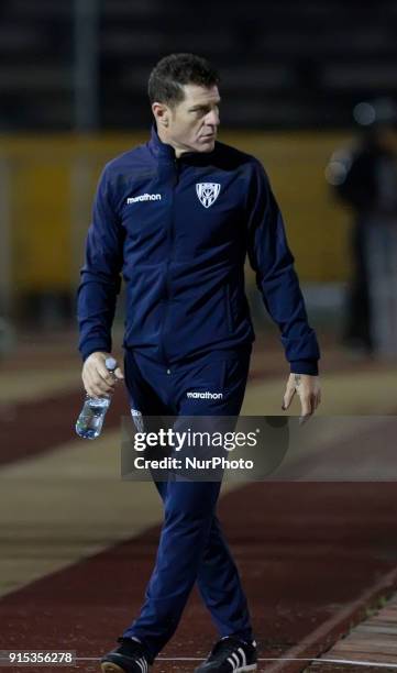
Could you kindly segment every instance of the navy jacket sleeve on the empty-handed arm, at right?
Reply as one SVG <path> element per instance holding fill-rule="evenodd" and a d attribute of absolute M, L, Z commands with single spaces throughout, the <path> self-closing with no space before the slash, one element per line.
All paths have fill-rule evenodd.
<path fill-rule="evenodd" d="M 279 327 L 290 371 L 316 375 L 320 358 L 316 333 L 308 324 L 283 217 L 260 163 L 254 167 L 247 207 L 250 263 L 266 310 Z"/>

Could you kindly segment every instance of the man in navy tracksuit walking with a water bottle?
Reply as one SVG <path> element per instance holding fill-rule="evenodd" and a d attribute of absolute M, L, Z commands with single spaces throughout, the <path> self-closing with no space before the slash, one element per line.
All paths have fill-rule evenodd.
<path fill-rule="evenodd" d="M 290 363 L 283 408 L 297 391 L 306 418 L 320 402 L 316 334 L 262 165 L 217 142 L 218 85 L 203 58 L 163 58 L 148 81 L 151 140 L 104 167 L 78 296 L 84 385 L 89 395 L 113 389 L 104 360 L 122 273 L 131 408 L 143 418 L 238 416 L 254 340 L 247 254 Z M 120 368 L 115 376 L 123 377 Z M 216 516 L 220 481 L 156 486 L 164 525 L 145 602 L 120 646 L 102 658 L 102 671 L 145 673 L 196 582 L 220 635 L 197 671 L 256 669 L 245 595 Z"/>

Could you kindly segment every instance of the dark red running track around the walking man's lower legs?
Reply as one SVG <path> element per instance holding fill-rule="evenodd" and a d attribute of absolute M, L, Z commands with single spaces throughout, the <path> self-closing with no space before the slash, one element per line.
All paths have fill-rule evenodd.
<path fill-rule="evenodd" d="M 220 516 L 261 657 L 286 653 L 396 566 L 396 497 L 397 485 L 388 483 L 282 482 L 251 484 L 222 498 Z M 157 537 L 158 529 L 151 529 L 3 597 L 0 649 L 62 648 L 87 658 L 106 652 L 141 605 Z M 162 657 L 205 657 L 214 638 L 195 594 Z M 317 652 L 333 640 L 318 643 Z M 192 662 L 156 664 L 166 672 L 192 669 Z M 89 673 L 98 664 L 80 662 L 71 670 Z"/>

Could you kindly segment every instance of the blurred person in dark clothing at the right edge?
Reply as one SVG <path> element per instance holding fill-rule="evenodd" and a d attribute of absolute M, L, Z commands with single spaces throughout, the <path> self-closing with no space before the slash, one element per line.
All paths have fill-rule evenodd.
<path fill-rule="evenodd" d="M 363 354 L 397 354 L 397 107 L 390 99 L 354 108 L 355 147 L 335 152 L 327 179 L 354 211 L 352 278 L 343 343 Z"/>

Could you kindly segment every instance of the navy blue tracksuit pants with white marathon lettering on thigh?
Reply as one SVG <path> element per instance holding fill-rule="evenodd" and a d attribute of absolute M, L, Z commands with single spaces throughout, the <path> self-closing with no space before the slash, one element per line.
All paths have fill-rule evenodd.
<path fill-rule="evenodd" d="M 251 346 L 218 351 L 166 366 L 126 349 L 131 407 L 143 416 L 238 416 L 250 354 Z M 188 391 L 222 393 L 222 397 L 191 398 Z M 157 558 L 141 613 L 123 637 L 141 640 L 154 659 L 174 635 L 197 582 L 220 636 L 251 642 L 246 598 L 216 515 L 221 482 L 155 484 L 164 504 Z"/>

